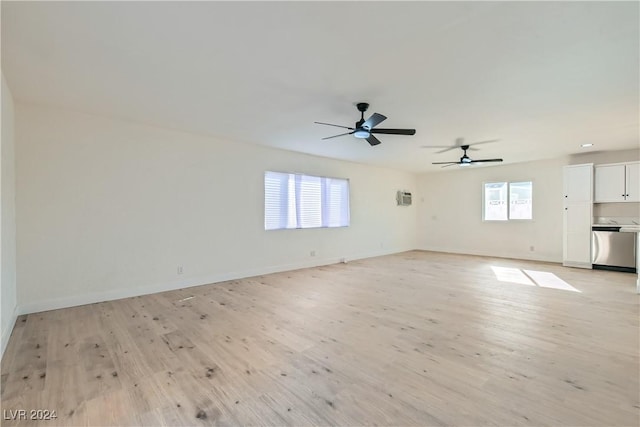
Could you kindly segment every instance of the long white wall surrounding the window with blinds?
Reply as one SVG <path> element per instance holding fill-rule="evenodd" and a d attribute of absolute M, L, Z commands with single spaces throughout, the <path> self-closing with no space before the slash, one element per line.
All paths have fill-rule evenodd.
<path fill-rule="evenodd" d="M 416 246 L 409 173 L 19 103 L 16 131 L 21 312 Z M 265 170 L 349 178 L 351 226 L 264 231 Z"/>

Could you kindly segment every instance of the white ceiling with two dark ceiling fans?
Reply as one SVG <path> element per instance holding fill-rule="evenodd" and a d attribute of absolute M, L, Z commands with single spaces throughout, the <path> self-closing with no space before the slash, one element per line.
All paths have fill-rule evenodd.
<path fill-rule="evenodd" d="M 7 2 L 18 101 L 408 171 L 639 145 L 638 2 Z M 370 147 L 321 141 L 388 117 Z M 337 132 L 336 132 L 337 131 Z"/>

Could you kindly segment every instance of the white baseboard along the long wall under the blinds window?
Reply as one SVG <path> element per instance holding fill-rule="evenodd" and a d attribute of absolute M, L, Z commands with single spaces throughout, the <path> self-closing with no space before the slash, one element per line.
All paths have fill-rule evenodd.
<path fill-rule="evenodd" d="M 94 304 L 97 302 L 113 301 L 123 298 L 137 297 L 141 295 L 155 294 L 158 292 L 173 291 L 176 289 L 190 288 L 194 286 L 208 285 L 212 283 L 225 282 L 228 280 L 243 279 L 248 277 L 261 276 L 271 273 L 280 273 L 283 271 L 299 270 L 301 268 L 319 267 L 323 265 L 337 264 L 342 260 L 354 261 L 364 258 L 373 258 L 376 256 L 391 255 L 395 253 L 401 253 L 410 251 L 412 249 L 389 249 L 380 250 L 370 253 L 345 255 L 343 257 L 332 257 L 324 259 L 305 260 L 291 264 L 282 264 L 271 267 L 257 268 L 251 270 L 245 270 L 241 272 L 231 273 L 219 273 L 211 276 L 190 277 L 181 280 L 168 281 L 164 283 L 157 283 L 149 286 L 134 287 L 128 289 L 115 289 L 106 292 L 92 292 L 82 295 L 70 295 L 61 298 L 33 301 L 26 304 L 21 304 L 17 307 L 17 314 L 32 314 L 40 313 L 43 311 L 57 310 L 60 308 L 76 307 L 79 305 Z M 15 313 L 14 313 L 15 314 Z M 11 330 L 9 331 L 9 335 Z M 4 343 L 4 332 L 2 335 Z M 7 338 L 8 340 L 8 338 Z M 3 348 L 4 349 L 4 348 Z"/>

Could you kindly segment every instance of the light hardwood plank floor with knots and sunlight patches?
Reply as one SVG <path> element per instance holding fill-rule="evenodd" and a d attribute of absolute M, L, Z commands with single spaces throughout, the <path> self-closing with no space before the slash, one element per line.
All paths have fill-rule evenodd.
<path fill-rule="evenodd" d="M 21 316 L 3 418 L 58 418 L 2 425 L 637 426 L 634 284 L 413 251 Z"/>

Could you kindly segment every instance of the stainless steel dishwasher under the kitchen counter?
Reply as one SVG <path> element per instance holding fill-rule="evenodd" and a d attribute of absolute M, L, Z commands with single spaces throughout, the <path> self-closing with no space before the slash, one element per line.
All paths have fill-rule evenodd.
<path fill-rule="evenodd" d="M 619 226 L 591 228 L 594 269 L 636 272 L 636 235 L 621 233 Z"/>

